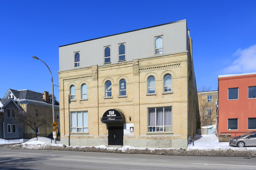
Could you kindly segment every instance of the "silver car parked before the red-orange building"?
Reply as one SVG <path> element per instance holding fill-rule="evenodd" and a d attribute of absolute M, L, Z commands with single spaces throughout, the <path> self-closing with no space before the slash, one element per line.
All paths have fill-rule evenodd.
<path fill-rule="evenodd" d="M 240 136 L 233 137 L 229 141 L 230 146 L 245 147 L 256 146 L 256 131 L 248 132 Z"/>

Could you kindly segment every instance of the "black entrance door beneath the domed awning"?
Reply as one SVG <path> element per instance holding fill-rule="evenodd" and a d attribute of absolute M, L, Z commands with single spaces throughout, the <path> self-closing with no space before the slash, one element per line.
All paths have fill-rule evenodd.
<path fill-rule="evenodd" d="M 108 126 L 108 145 L 123 145 L 123 126 Z"/>

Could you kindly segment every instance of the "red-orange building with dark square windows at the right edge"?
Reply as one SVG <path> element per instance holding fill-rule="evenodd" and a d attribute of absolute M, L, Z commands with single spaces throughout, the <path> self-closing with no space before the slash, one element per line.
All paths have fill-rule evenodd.
<path fill-rule="evenodd" d="M 256 130 L 256 73 L 220 75 L 217 133 L 231 137 Z"/>

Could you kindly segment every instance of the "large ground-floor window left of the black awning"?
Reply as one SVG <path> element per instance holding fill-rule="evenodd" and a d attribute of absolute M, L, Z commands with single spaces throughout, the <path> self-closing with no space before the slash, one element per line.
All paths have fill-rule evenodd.
<path fill-rule="evenodd" d="M 71 112 L 71 132 L 88 133 L 88 112 Z"/>

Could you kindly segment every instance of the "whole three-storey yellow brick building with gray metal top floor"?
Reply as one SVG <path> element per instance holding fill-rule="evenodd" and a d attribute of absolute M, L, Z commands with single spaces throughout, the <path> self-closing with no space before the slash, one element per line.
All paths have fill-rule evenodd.
<path fill-rule="evenodd" d="M 67 145 L 187 148 L 198 100 L 186 20 L 59 47 Z"/>

